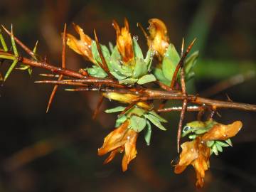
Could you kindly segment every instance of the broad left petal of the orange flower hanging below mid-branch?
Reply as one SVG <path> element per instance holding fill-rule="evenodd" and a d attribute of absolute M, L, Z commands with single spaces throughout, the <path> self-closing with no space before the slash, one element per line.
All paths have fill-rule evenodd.
<path fill-rule="evenodd" d="M 98 155 L 102 156 L 108 152 L 117 149 L 118 147 L 124 145 L 125 141 L 123 140 L 124 134 L 127 132 L 127 127 L 129 122 L 126 121 L 120 125 L 117 129 L 114 129 L 110 134 L 107 135 L 104 139 L 103 146 L 98 149 Z"/>

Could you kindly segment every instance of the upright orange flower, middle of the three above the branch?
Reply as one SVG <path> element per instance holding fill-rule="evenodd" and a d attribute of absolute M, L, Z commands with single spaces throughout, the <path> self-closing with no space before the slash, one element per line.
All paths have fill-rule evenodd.
<path fill-rule="evenodd" d="M 113 21 L 113 26 L 117 32 L 117 48 L 119 53 L 122 55 L 124 63 L 128 63 L 129 60 L 134 58 L 134 51 L 132 48 L 132 36 L 129 33 L 129 23 L 126 18 L 124 18 L 124 27 L 119 28 L 117 21 Z"/>

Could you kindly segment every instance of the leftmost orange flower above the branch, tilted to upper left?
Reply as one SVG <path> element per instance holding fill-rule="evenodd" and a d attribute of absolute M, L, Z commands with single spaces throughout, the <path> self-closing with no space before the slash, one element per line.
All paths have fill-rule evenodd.
<path fill-rule="evenodd" d="M 67 35 L 67 45 L 73 49 L 76 53 L 84 56 L 87 60 L 90 60 L 92 63 L 95 63 L 95 60 L 92 58 L 92 39 L 87 36 L 80 26 L 74 24 L 75 31 L 80 35 L 80 40 L 75 38 L 73 35 Z"/>

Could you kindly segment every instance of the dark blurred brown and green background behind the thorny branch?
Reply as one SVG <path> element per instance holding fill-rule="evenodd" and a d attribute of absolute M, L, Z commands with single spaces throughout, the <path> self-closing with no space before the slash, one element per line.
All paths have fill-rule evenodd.
<path fill-rule="evenodd" d="M 27 46 L 36 41 L 38 54 L 60 65 L 64 23 L 75 34 L 72 22 L 92 36 L 97 30 L 102 43 L 115 41 L 112 19 L 120 24 L 124 17 L 142 48 L 146 41 L 136 23 L 146 28 L 149 18 L 161 18 L 169 29 L 176 48 L 198 38 L 193 50 L 200 50 L 196 78 L 188 82 L 191 93 L 235 102 L 256 103 L 256 1 L 28 1 L 1 0 L 0 23 L 14 25 L 14 33 Z M 5 36 L 7 39 L 7 36 Z M 21 50 L 21 49 L 20 49 Z M 67 51 L 68 68 L 78 70 L 90 65 L 72 50 Z M 1 73 L 6 67 L 1 66 Z M 90 92 L 64 92 L 59 87 L 46 114 L 52 85 L 33 83 L 41 80 L 35 69 L 32 77 L 21 71 L 11 73 L 0 87 L 0 191 L 197 191 L 191 167 L 174 174 L 170 162 L 176 154 L 178 113 L 164 114 L 168 131 L 153 130 L 151 146 L 142 136 L 137 142 L 137 158 L 122 173 L 122 155 L 110 164 L 97 156 L 104 137 L 114 127 L 114 114 L 100 112 L 92 121 L 98 95 Z M 231 78 L 231 79 L 230 79 Z M 218 82 L 230 80 L 228 89 Z M 217 85 L 217 86 L 216 86 Z M 217 87 L 214 88 L 214 87 Z M 221 91 L 218 91 L 220 88 Z M 107 100 L 102 110 L 116 106 Z M 210 171 L 200 191 L 256 190 L 256 114 L 237 110 L 220 111 L 217 120 L 228 124 L 243 122 L 233 139 L 233 147 L 211 156 Z M 196 114 L 186 115 L 186 122 Z"/>

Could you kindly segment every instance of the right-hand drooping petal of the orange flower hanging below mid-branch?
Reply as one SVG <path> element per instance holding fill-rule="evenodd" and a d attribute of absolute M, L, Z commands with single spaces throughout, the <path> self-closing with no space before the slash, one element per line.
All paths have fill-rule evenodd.
<path fill-rule="evenodd" d="M 133 129 L 129 129 L 125 136 L 127 142 L 124 144 L 124 157 L 122 159 L 122 171 L 127 171 L 127 167 L 130 161 L 136 157 L 136 142 L 138 133 Z"/>

